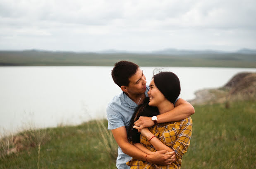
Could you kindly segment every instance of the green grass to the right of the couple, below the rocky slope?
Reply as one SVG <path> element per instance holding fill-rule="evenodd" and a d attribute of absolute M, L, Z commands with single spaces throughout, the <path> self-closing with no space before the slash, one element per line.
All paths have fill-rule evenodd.
<path fill-rule="evenodd" d="M 256 102 L 196 106 L 182 168 L 256 168 Z"/>

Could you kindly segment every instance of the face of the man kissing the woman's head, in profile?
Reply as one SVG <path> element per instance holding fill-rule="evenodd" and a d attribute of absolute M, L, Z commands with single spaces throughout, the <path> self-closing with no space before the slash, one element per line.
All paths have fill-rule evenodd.
<path fill-rule="evenodd" d="M 146 91 L 146 77 L 140 68 L 129 78 L 129 81 L 128 93 L 141 94 Z"/>

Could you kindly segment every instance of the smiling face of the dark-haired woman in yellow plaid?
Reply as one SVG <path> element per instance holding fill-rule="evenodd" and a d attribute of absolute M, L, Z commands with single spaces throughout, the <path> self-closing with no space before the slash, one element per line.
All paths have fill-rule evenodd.
<path fill-rule="evenodd" d="M 149 84 L 149 91 L 148 91 L 148 97 L 149 97 L 149 106 L 158 106 L 160 103 L 162 103 L 164 100 L 166 100 L 163 93 L 158 90 L 158 88 L 155 85 L 154 79 Z"/>

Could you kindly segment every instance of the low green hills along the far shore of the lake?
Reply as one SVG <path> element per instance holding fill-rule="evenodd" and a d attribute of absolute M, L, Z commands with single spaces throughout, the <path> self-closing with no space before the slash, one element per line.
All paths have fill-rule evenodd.
<path fill-rule="evenodd" d="M 0 51 L 0 66 L 113 66 L 129 60 L 140 66 L 155 67 L 252 67 L 256 68 L 256 52 L 241 49 L 235 52 L 190 51 L 166 49 L 153 52 L 128 51 Z"/>

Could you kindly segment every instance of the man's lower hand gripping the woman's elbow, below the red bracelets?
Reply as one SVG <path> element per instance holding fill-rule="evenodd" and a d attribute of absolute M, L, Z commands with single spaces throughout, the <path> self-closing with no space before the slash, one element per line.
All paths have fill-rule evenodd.
<path fill-rule="evenodd" d="M 156 151 L 153 155 L 147 156 L 148 162 L 151 164 L 170 165 L 175 160 L 175 153 L 166 150 Z"/>

